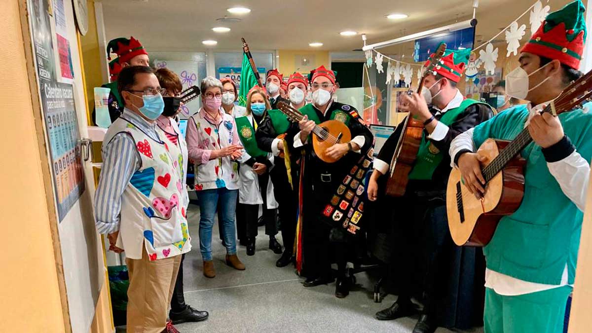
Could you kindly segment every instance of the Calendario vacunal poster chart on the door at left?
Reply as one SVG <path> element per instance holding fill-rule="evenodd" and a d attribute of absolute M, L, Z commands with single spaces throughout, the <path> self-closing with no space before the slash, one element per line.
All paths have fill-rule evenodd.
<path fill-rule="evenodd" d="M 41 84 L 41 102 L 45 114 L 57 213 L 60 222 L 84 191 L 78 119 L 72 85 L 59 82 Z"/>

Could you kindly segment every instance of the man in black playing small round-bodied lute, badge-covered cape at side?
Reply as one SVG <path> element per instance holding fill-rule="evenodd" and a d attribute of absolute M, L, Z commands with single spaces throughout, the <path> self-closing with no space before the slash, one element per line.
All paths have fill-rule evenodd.
<path fill-rule="evenodd" d="M 346 277 L 346 255 L 350 249 L 346 242 L 348 235 L 343 234 L 346 233 L 343 228 L 333 228 L 333 219 L 327 217 L 324 211 L 352 167 L 371 149 L 373 137 L 354 107 L 333 101 L 333 94 L 336 91 L 335 73 L 320 66 L 311 72 L 311 75 L 313 104 L 300 108 L 305 117 L 300 123 L 292 124 L 291 128 L 291 133 L 295 133 L 295 136 L 292 135 L 294 148 L 305 151 L 301 161 L 301 164 L 304 164 L 304 171 L 300 175 L 302 181 L 300 191 L 303 200 L 300 203 L 300 213 L 303 216 L 302 247 L 297 249 L 298 252 L 301 251 L 297 253 L 297 268 L 301 268 L 301 275 L 306 277 L 304 287 L 331 283 L 333 281 L 331 257 L 334 257 L 338 268 L 335 296 L 341 298 L 349 294 L 351 281 Z M 327 120 L 342 121 L 348 126 L 352 135 L 350 142 L 336 143 L 327 149 L 327 153 L 337 159 L 334 163 L 321 161 L 311 145 L 310 135 L 314 126 Z M 363 180 L 352 180 L 352 184 L 359 185 L 361 181 Z M 358 185 L 353 188 L 358 188 Z M 343 242 L 332 242 L 330 235 L 341 236 L 340 240 Z M 300 239 L 300 236 L 298 237 Z M 301 264 L 304 266 L 301 267 Z"/>

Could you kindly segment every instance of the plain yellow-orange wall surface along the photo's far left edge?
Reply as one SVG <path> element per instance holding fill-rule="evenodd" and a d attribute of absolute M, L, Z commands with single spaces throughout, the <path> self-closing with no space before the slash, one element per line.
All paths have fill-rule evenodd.
<path fill-rule="evenodd" d="M 0 1 L 0 12 L 0 327 L 64 332 L 18 1 Z"/>

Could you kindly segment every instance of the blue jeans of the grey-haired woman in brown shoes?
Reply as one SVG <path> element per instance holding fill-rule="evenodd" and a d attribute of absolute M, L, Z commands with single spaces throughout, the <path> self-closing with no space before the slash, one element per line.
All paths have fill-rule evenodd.
<path fill-rule="evenodd" d="M 212 190 L 197 191 L 200 200 L 200 250 L 204 261 L 212 260 L 212 226 L 216 210 L 220 209 L 222 226 L 220 232 L 224 235 L 226 252 L 236 254 L 236 228 L 234 214 L 236 212 L 236 197 L 239 190 L 228 190 L 226 187 Z"/>

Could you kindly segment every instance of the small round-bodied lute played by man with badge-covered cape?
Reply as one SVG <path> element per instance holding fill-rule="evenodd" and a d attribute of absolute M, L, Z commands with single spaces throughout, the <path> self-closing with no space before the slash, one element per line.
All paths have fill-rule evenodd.
<path fill-rule="evenodd" d="M 278 102 L 278 108 L 284 113 L 291 121 L 301 121 L 304 119 L 304 114 L 296 110 L 288 103 L 283 101 Z M 327 120 L 324 123 L 320 123 L 314 126 L 313 132 L 313 149 L 314 153 L 317 154 L 318 158 L 327 163 L 336 162 L 334 159 L 327 155 L 326 151 L 329 147 L 336 143 L 346 143 L 352 139 L 352 135 L 349 132 L 348 126 L 339 120 Z"/>

